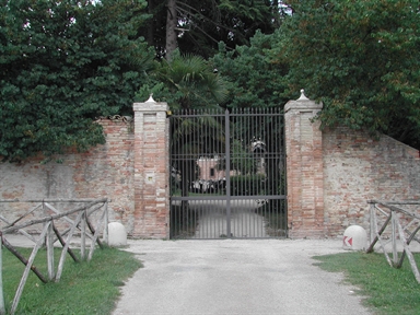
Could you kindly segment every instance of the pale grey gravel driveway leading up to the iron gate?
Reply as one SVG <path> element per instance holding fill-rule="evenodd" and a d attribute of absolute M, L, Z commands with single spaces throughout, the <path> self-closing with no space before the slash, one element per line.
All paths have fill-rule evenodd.
<path fill-rule="evenodd" d="M 117 314 L 371 314 L 315 255 L 341 240 L 129 241 L 144 268 L 121 288 Z"/>

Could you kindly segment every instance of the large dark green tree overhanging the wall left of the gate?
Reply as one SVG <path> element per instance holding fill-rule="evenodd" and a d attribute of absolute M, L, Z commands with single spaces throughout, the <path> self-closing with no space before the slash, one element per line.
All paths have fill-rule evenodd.
<path fill-rule="evenodd" d="M 131 113 L 154 52 L 131 0 L 2 0 L 0 155 L 21 161 L 104 142 L 101 115 Z"/>

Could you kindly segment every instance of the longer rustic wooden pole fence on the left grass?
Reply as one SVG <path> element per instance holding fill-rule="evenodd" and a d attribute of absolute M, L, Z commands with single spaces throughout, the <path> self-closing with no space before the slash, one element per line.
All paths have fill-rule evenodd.
<path fill-rule="evenodd" d="M 36 277 L 39 278 L 40 281 L 45 283 L 48 281 L 58 282 L 61 278 L 67 254 L 69 254 L 74 261 L 79 261 L 79 258 L 74 254 L 73 249 L 70 248 L 70 244 L 72 244 L 72 241 L 78 238 L 77 243 L 80 243 L 80 257 L 83 260 L 91 260 L 96 243 L 101 248 L 103 247 L 103 244 L 100 240 L 101 231 L 103 231 L 104 242 L 108 243 L 107 207 L 109 201 L 110 200 L 108 200 L 107 198 L 71 200 L 0 200 L 0 206 L 4 206 L 7 203 L 19 203 L 20 207 L 22 207 L 22 205 L 32 205 L 32 207 L 23 215 L 14 218 L 14 220 L 7 219 L 3 214 L 0 214 L 0 222 L 2 223 L 2 229 L 0 230 L 1 244 L 4 246 L 4 248 L 9 249 L 14 256 L 18 257 L 20 261 L 22 261 L 26 266 L 13 299 L 13 303 L 10 310 L 11 314 L 14 314 L 18 308 L 23 288 L 26 283 L 31 270 L 36 275 Z M 74 206 L 74 202 L 77 202 L 78 206 Z M 57 209 L 57 206 L 52 206 L 56 203 L 62 206 L 65 210 L 60 211 L 59 209 Z M 69 205 L 73 205 L 73 207 L 75 208 L 68 209 Z M 7 211 L 1 211 L 0 213 L 5 212 Z M 94 214 L 96 214 L 96 224 L 93 224 L 91 220 Z M 34 234 L 34 231 L 37 231 L 35 232 L 36 234 Z M 8 236 L 11 236 L 15 233 L 20 233 L 26 236 L 28 240 L 32 241 L 32 243 L 34 243 L 34 247 L 28 259 L 21 255 L 19 250 L 8 241 Z M 86 238 L 90 238 L 89 253 L 86 253 Z M 55 268 L 54 261 L 54 244 L 56 242 L 59 242 L 62 247 L 57 269 Z M 35 256 L 37 255 L 38 249 L 43 246 L 45 246 L 47 249 L 47 276 L 42 275 L 42 272 L 35 266 L 33 266 Z M 0 246 L 0 315 L 5 314 L 1 267 L 2 264 Z"/>

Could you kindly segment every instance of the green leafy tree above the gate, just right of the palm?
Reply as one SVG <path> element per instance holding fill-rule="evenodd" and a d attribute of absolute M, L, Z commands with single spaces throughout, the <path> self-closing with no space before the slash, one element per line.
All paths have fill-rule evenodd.
<path fill-rule="evenodd" d="M 228 50 L 220 43 L 220 51 L 210 59 L 219 73 L 229 82 L 228 108 L 276 107 L 287 101 L 283 77 L 288 65 L 281 63 L 272 51 L 278 45 L 278 34 L 257 32 L 249 45 Z"/>

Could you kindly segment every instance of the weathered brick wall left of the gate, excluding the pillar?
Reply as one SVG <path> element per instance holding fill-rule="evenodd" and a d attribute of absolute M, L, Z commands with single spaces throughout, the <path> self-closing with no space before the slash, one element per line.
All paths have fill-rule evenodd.
<path fill-rule="evenodd" d="M 112 199 L 109 220 L 133 229 L 133 131 L 132 122 L 103 119 L 106 143 L 86 153 L 71 153 L 42 164 L 42 158 L 23 164 L 0 164 L 1 199 L 103 198 Z M 27 208 L 22 203 L 0 205 L 8 219 Z M 7 210 L 10 209 L 10 210 Z M 11 211 L 13 210 L 13 211 Z"/>

